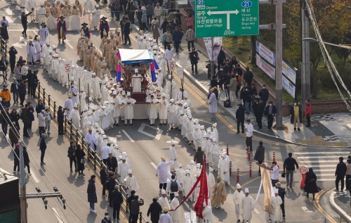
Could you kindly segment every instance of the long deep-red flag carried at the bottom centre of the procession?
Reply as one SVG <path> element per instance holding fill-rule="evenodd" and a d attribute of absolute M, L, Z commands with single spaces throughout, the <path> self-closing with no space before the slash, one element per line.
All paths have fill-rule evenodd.
<path fill-rule="evenodd" d="M 200 191 L 197 202 L 194 205 L 194 210 L 197 213 L 197 217 L 202 218 L 202 211 L 204 210 L 204 202 L 208 205 L 208 188 L 207 188 L 207 174 L 206 174 L 206 155 L 204 155 L 204 163 L 202 163 L 202 169 L 200 174 Z"/>

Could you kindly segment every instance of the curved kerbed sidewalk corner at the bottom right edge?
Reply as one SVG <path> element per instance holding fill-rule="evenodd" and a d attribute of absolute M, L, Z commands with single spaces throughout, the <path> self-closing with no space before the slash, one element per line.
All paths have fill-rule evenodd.
<path fill-rule="evenodd" d="M 346 222 L 351 223 L 351 203 L 350 192 L 343 191 L 343 193 L 332 192 L 330 196 L 330 203 L 333 210 L 345 219 Z"/>

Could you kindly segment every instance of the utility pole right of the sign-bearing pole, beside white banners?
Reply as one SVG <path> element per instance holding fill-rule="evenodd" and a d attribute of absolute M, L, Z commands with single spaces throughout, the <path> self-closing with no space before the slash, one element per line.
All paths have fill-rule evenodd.
<path fill-rule="evenodd" d="M 310 42 L 303 41 L 310 37 L 310 21 L 308 20 L 308 12 L 305 8 L 305 0 L 300 0 L 301 10 L 301 102 L 303 110 L 305 109 L 305 101 L 310 98 L 311 94 L 311 65 L 310 65 Z"/>

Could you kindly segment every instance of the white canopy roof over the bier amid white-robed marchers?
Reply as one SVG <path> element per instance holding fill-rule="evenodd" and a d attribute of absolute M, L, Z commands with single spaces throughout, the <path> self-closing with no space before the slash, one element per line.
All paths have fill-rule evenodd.
<path fill-rule="evenodd" d="M 152 52 L 147 49 L 119 49 L 121 62 L 125 64 L 131 63 L 151 63 L 154 61 Z"/>

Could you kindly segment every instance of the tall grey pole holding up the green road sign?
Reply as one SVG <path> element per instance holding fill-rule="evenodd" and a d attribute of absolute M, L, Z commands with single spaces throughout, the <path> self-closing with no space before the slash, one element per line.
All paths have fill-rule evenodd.
<path fill-rule="evenodd" d="M 275 5 L 275 96 L 277 106 L 277 130 L 283 129 L 283 4 L 277 0 Z"/>

